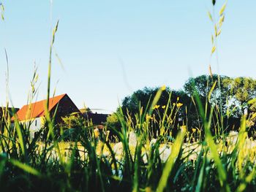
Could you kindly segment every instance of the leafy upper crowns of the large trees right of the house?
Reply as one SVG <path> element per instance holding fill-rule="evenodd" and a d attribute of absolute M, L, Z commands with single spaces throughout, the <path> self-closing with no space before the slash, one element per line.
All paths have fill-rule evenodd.
<path fill-rule="evenodd" d="M 145 111 L 147 107 L 151 106 L 158 90 L 159 88 L 145 87 L 135 91 L 130 96 L 126 96 L 121 104 L 124 115 L 128 113 L 135 117 L 141 109 Z M 247 113 L 256 111 L 256 104 L 248 104 L 248 101 L 256 98 L 256 80 L 249 77 L 232 78 L 213 74 L 189 78 L 184 84 L 184 90 L 176 91 L 166 88 L 157 103 L 159 112 L 165 111 L 165 105 L 170 96 L 171 104 L 177 102 L 182 104 L 178 112 L 178 119 L 182 120 L 189 129 L 200 126 L 201 122 L 197 107 L 195 107 L 195 98 L 193 98 L 195 93 L 200 97 L 203 106 L 208 104 L 209 107 L 205 110 L 210 110 L 211 107 L 216 107 L 217 110 L 222 109 L 225 120 L 234 118 L 236 121 L 236 119 L 241 118 L 246 107 Z"/>

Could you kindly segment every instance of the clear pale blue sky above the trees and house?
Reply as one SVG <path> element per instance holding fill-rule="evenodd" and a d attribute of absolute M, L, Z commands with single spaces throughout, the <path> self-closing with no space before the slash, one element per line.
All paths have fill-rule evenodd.
<path fill-rule="evenodd" d="M 0 0 L 1 1 L 1 0 Z M 181 89 L 189 77 L 214 73 L 256 78 L 256 1 L 227 2 L 211 55 L 211 1 L 201 0 L 2 0 L 0 22 L 0 104 L 6 102 L 7 62 L 12 104 L 26 104 L 38 68 L 37 100 L 45 99 L 50 38 L 51 94 L 67 93 L 79 108 L 113 112 L 125 96 L 147 87 Z M 215 12 L 225 1 L 217 1 Z M 58 57 L 61 59 L 59 64 Z"/>

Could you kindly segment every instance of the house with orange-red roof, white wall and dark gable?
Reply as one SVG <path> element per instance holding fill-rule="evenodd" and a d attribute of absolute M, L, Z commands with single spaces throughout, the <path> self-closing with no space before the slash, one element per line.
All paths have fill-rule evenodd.
<path fill-rule="evenodd" d="M 29 129 L 31 132 L 31 137 L 39 131 L 39 129 L 44 126 L 45 123 L 45 105 L 46 99 L 42 101 L 37 101 L 31 104 L 24 105 L 18 110 L 16 116 L 20 123 L 29 124 Z M 50 117 L 53 117 L 54 112 L 56 112 L 56 123 L 62 122 L 62 117 L 70 115 L 75 112 L 79 112 L 78 107 L 75 106 L 73 101 L 65 93 L 60 96 L 54 96 L 49 99 Z M 15 120 L 12 117 L 12 120 Z"/>

